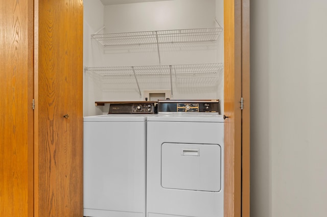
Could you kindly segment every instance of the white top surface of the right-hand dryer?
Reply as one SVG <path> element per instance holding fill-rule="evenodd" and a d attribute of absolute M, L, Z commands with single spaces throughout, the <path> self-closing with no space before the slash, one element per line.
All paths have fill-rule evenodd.
<path fill-rule="evenodd" d="M 170 122 L 219 122 L 223 123 L 222 115 L 218 113 L 160 113 L 148 117 L 148 121 Z"/>

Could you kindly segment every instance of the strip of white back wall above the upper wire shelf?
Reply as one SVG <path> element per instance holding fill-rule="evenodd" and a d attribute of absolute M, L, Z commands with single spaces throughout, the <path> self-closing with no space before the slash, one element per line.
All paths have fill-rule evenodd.
<path fill-rule="evenodd" d="M 175 0 L 105 6 L 107 33 L 212 28 L 215 0 Z"/>

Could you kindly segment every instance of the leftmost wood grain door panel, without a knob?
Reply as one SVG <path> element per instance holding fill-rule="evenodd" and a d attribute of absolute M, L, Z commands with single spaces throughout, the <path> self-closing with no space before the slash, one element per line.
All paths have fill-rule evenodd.
<path fill-rule="evenodd" d="M 0 213 L 33 216 L 33 1 L 2 1 L 0 26 Z"/>

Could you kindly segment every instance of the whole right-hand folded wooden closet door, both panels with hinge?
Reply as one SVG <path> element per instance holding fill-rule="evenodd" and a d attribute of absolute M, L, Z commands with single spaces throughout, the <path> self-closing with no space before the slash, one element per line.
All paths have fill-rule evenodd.
<path fill-rule="evenodd" d="M 224 1 L 224 217 L 250 216 L 249 4 Z"/>

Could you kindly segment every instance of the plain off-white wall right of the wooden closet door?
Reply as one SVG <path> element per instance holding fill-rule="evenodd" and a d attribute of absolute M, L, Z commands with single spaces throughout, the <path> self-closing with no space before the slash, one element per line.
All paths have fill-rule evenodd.
<path fill-rule="evenodd" d="M 251 4 L 251 217 L 327 216 L 327 1 Z"/>

